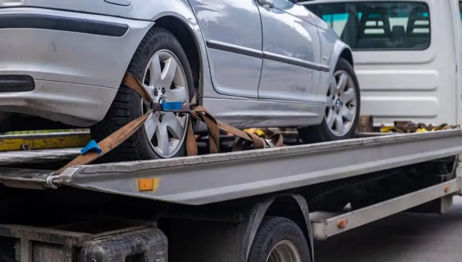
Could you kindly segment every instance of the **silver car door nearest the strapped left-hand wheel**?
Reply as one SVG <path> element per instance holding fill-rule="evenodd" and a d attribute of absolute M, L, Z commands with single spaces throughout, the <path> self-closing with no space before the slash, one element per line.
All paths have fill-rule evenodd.
<path fill-rule="evenodd" d="M 263 53 L 255 0 L 189 0 L 189 4 L 206 41 L 215 90 L 257 98 Z"/>

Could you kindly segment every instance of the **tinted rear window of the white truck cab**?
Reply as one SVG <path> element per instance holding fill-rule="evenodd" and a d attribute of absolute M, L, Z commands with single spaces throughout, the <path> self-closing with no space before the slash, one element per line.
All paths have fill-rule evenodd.
<path fill-rule="evenodd" d="M 425 50 L 430 46 L 429 7 L 423 2 L 336 2 L 312 7 L 353 50 Z"/>

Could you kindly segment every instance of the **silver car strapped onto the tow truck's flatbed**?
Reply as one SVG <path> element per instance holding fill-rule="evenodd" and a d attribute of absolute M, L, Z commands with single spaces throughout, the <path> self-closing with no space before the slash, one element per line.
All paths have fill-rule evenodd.
<path fill-rule="evenodd" d="M 199 103 L 239 128 L 350 138 L 360 111 L 352 51 L 296 2 L 0 0 L 0 112 L 89 127 L 98 141 L 146 111 L 121 85 L 128 70 L 155 101 Z M 188 121 L 153 113 L 111 160 L 184 155 Z"/>

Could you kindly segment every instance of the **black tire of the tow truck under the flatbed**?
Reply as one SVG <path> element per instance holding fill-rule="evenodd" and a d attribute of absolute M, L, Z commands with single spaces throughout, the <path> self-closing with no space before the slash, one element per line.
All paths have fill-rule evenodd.
<path fill-rule="evenodd" d="M 278 245 L 279 244 L 279 245 Z M 273 262 L 269 255 L 277 253 L 277 246 L 288 245 L 298 254 L 299 260 L 284 262 L 311 262 L 310 248 L 300 227 L 284 217 L 268 216 L 263 219 L 252 243 L 247 262 Z M 295 249 L 293 249 L 295 247 Z"/>

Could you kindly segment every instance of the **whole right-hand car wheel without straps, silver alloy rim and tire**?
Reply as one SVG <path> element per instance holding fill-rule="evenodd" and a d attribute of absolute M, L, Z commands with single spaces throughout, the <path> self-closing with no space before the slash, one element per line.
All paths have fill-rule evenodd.
<path fill-rule="evenodd" d="M 324 120 L 319 126 L 298 129 L 303 143 L 317 143 L 352 138 L 361 110 L 359 83 L 353 66 L 339 58 L 326 94 Z"/>

